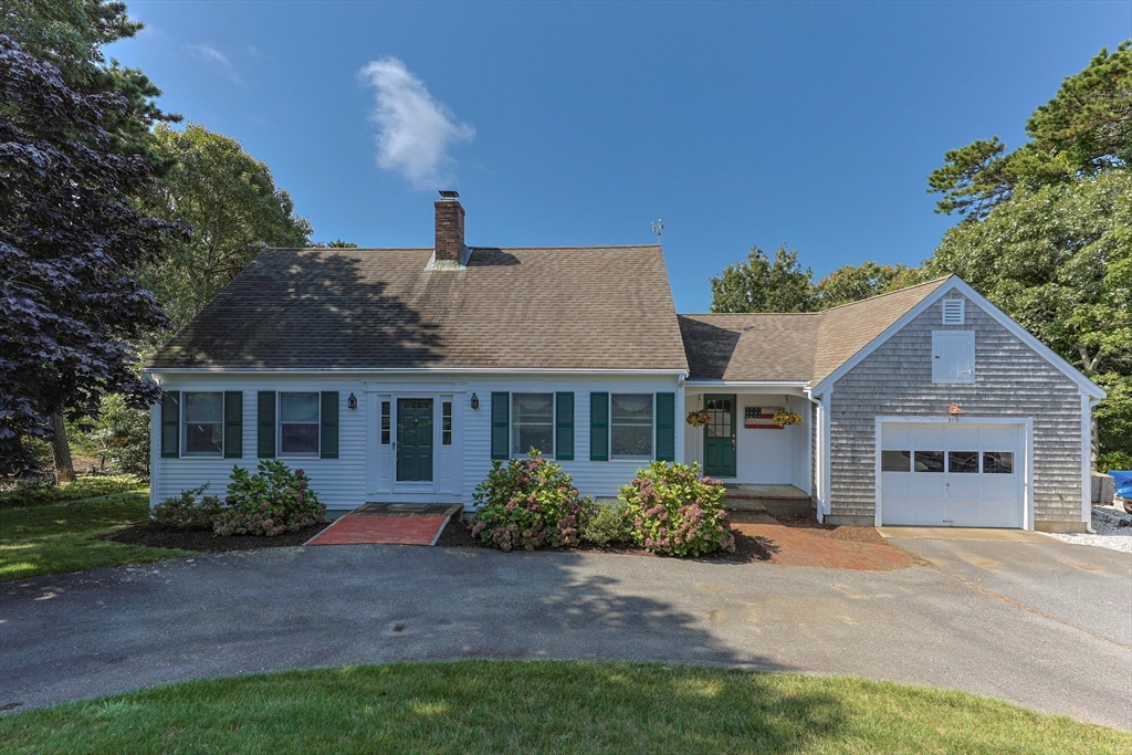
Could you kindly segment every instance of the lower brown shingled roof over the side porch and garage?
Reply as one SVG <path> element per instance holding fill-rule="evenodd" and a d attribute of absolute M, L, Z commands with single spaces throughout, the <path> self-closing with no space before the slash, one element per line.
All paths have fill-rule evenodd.
<path fill-rule="evenodd" d="M 689 380 L 821 383 L 947 281 L 799 315 L 680 315 Z"/>

